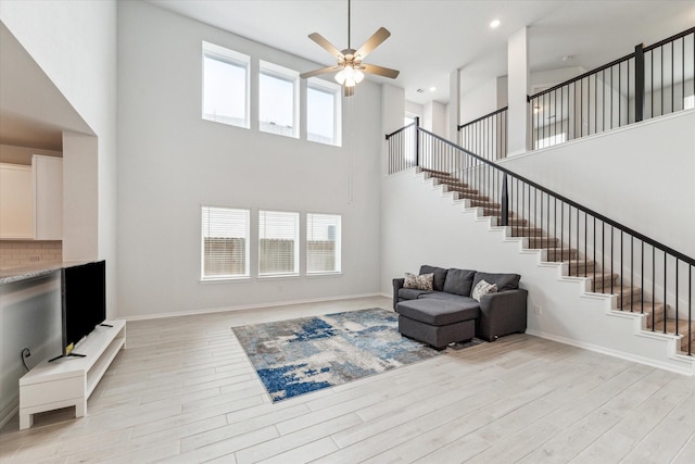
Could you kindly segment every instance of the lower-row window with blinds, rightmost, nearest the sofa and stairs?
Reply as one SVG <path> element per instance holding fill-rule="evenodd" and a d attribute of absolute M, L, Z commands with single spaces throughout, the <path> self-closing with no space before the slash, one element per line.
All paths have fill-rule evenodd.
<path fill-rule="evenodd" d="M 306 214 L 306 273 L 340 272 L 340 216 Z"/>

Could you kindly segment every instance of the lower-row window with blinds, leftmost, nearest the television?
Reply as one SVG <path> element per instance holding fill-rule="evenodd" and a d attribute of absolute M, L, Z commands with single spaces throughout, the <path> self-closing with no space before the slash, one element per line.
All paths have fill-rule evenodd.
<path fill-rule="evenodd" d="M 202 208 L 201 278 L 249 277 L 249 210 Z"/>

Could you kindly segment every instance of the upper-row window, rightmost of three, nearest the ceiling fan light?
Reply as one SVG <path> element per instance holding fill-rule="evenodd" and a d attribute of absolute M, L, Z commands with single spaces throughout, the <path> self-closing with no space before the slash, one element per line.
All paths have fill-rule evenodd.
<path fill-rule="evenodd" d="M 340 146 L 340 86 L 309 78 L 306 88 L 306 139 Z"/>

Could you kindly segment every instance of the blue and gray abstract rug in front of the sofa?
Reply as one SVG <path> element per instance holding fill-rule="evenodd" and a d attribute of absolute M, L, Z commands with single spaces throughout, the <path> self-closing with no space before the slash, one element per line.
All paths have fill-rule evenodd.
<path fill-rule="evenodd" d="M 379 308 L 232 330 L 274 402 L 444 352 L 403 337 L 397 314 Z"/>

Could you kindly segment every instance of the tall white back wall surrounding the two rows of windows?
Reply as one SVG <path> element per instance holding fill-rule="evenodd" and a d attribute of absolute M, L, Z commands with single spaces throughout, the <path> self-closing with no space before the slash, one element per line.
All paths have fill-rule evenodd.
<path fill-rule="evenodd" d="M 343 100 L 342 148 L 203 121 L 203 40 L 252 63 L 317 67 L 147 3 L 119 3 L 119 315 L 377 292 L 381 87 L 364 81 Z M 201 284 L 203 204 L 251 209 L 252 217 L 258 209 L 341 214 L 342 275 L 258 279 L 252 260 L 250 280 Z"/>

